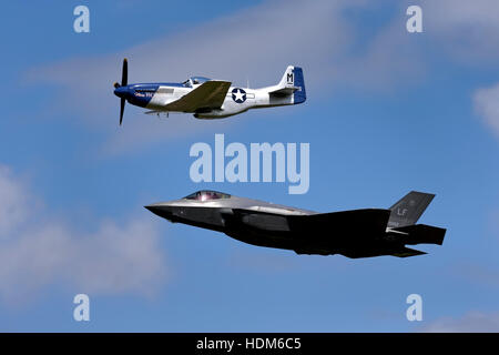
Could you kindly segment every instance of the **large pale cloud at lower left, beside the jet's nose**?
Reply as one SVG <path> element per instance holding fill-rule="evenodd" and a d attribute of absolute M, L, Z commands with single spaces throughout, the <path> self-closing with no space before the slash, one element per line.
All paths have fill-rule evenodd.
<path fill-rule="evenodd" d="M 169 276 L 160 235 L 147 221 L 103 221 L 81 233 L 41 213 L 11 171 L 0 165 L 0 300 L 23 302 L 44 286 L 63 284 L 88 294 L 150 296 Z"/>

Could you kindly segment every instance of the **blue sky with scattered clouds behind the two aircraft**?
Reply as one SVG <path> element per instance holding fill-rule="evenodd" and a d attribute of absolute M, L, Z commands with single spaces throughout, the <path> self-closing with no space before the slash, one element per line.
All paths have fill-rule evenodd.
<path fill-rule="evenodd" d="M 0 329 L 499 331 L 499 6 L 417 3 L 415 34 L 404 1 L 6 4 Z M 78 4 L 90 33 L 73 31 Z M 119 128 L 123 57 L 130 82 L 259 87 L 297 64 L 308 98 L 213 122 L 128 105 Z M 193 183 L 189 150 L 215 133 L 309 143 L 308 193 Z M 437 196 L 420 221 L 448 232 L 419 257 L 298 256 L 142 207 L 200 189 L 320 212 L 427 191 Z M 89 323 L 72 318 L 77 293 L 90 296 Z M 422 322 L 406 320 L 411 293 Z"/>

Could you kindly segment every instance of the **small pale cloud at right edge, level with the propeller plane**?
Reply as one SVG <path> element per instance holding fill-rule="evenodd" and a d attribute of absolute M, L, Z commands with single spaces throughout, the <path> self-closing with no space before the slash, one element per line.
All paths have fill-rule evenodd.
<path fill-rule="evenodd" d="M 477 90 L 473 103 L 483 122 L 499 136 L 499 83 Z"/>

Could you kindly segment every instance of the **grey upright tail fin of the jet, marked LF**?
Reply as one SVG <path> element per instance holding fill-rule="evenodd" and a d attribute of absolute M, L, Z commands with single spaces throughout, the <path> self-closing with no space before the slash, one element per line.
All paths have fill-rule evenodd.
<path fill-rule="evenodd" d="M 435 194 L 411 191 L 390 207 L 388 227 L 397 229 L 415 224 Z"/>

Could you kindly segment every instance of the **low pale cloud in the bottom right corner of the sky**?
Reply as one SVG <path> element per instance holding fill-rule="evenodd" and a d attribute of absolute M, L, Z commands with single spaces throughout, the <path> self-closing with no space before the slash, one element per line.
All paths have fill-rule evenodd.
<path fill-rule="evenodd" d="M 461 317 L 441 317 L 421 328 L 428 333 L 499 332 L 499 314 L 468 312 Z"/>

